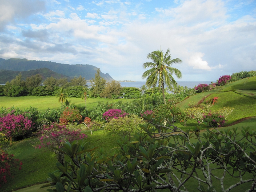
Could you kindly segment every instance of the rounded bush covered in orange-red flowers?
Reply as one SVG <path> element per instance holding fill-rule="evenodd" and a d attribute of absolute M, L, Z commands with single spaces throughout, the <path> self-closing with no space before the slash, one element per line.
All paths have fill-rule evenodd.
<path fill-rule="evenodd" d="M 79 114 L 78 109 L 72 109 L 69 107 L 66 107 L 66 109 L 61 114 L 61 117 L 59 119 L 59 122 L 61 125 L 67 125 L 68 122 L 74 122 L 74 121 L 81 121 L 82 116 Z"/>

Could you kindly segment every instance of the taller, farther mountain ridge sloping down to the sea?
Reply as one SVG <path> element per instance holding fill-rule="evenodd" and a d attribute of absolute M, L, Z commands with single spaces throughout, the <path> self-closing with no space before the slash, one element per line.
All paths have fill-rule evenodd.
<path fill-rule="evenodd" d="M 2 70 L 12 70 L 12 71 L 29 71 L 41 68 L 48 68 L 56 73 L 69 76 L 71 78 L 79 77 L 80 75 L 86 80 L 94 78 L 97 67 L 93 65 L 83 65 L 83 64 L 63 64 L 55 63 L 51 61 L 35 61 L 28 59 L 2 59 L 0 58 L 0 69 Z M 100 71 L 101 77 L 107 81 L 114 80 L 108 73 L 104 74 Z"/>

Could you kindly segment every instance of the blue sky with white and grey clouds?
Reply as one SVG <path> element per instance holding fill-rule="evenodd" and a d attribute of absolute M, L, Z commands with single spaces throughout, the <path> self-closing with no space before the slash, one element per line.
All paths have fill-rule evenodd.
<path fill-rule="evenodd" d="M 178 81 L 256 70 L 256 0 L 0 0 L 0 58 L 145 81 L 147 54 L 168 48 L 182 60 Z"/>

